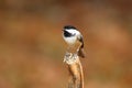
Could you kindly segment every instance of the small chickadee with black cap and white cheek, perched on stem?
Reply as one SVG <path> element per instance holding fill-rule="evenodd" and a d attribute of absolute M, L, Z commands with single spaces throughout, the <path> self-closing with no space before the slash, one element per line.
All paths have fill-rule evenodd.
<path fill-rule="evenodd" d="M 77 42 L 80 43 L 79 48 L 77 50 L 78 56 L 85 57 L 84 55 L 84 40 L 79 31 L 73 25 L 66 25 L 63 30 L 63 37 L 69 46 L 74 46 Z"/>

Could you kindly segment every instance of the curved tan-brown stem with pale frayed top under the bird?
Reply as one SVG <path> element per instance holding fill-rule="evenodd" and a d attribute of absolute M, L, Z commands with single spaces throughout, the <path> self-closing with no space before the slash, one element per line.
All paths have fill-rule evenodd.
<path fill-rule="evenodd" d="M 79 56 L 66 53 L 64 62 L 69 72 L 68 88 L 84 88 L 84 73 Z"/>

